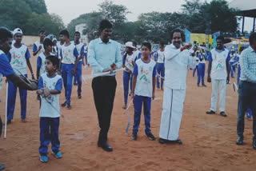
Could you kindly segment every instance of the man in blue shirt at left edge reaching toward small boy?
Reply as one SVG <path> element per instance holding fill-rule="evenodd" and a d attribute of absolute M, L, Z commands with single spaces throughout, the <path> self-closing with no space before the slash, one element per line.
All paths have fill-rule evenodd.
<path fill-rule="evenodd" d="M 37 85 L 35 83 L 27 83 L 22 78 L 19 78 L 17 74 L 14 73 L 14 70 L 10 66 L 10 62 L 6 56 L 8 54 L 13 35 L 10 30 L 6 28 L 0 28 L 0 89 L 2 88 L 2 76 L 8 78 L 14 85 L 22 89 L 35 90 Z M 0 136 L 2 133 L 2 120 L 0 117 Z M 5 165 L 0 164 L 0 170 L 5 169 Z"/>

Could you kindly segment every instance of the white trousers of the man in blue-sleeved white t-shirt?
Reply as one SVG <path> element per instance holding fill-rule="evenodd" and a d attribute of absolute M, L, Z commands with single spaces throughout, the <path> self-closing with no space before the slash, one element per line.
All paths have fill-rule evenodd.
<path fill-rule="evenodd" d="M 219 111 L 225 112 L 226 105 L 226 79 L 212 79 L 211 107 L 216 112 L 219 92 Z"/>

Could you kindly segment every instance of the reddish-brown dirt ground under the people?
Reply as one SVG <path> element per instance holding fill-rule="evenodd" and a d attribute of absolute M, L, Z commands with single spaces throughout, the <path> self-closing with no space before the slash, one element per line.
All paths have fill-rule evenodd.
<path fill-rule="evenodd" d="M 36 70 L 36 59 L 31 63 Z M 83 69 L 83 74 L 90 74 Z M 28 73 L 30 76 L 30 73 Z M 49 154 L 49 162 L 39 161 L 39 101 L 35 92 L 27 97 L 27 122 L 20 119 L 19 95 L 14 111 L 14 120 L 7 127 L 6 140 L 0 140 L 0 163 L 7 170 L 255 170 L 255 153 L 252 147 L 252 121 L 246 120 L 245 144 L 238 146 L 237 106 L 238 93 L 232 85 L 227 85 L 226 113 L 228 117 L 206 115 L 210 109 L 211 85 L 198 87 L 197 77 L 192 70 L 187 77 L 186 101 L 183 110 L 180 138 L 183 145 L 161 145 L 150 141 L 144 133 L 144 118 L 138 132 L 138 141 L 131 138 L 133 124 L 133 106 L 130 108 L 131 124 L 126 135 L 127 115 L 122 109 L 123 85 L 122 72 L 117 74 L 117 90 L 114 100 L 109 143 L 114 151 L 107 153 L 97 146 L 98 118 L 94 106 L 91 80 L 82 83 L 82 99 L 77 97 L 74 86 L 72 109 L 62 108 L 65 121 L 61 118 L 59 137 L 62 159 Z M 232 78 L 231 82 L 235 82 Z M 0 97 L 0 114 L 5 119 L 6 85 L 3 84 Z M 63 89 L 62 89 L 63 90 Z M 62 91 L 60 102 L 64 100 Z M 162 90 L 156 90 L 156 99 L 152 101 L 151 129 L 158 137 L 162 112 Z M 49 148 L 50 151 L 50 148 Z"/>

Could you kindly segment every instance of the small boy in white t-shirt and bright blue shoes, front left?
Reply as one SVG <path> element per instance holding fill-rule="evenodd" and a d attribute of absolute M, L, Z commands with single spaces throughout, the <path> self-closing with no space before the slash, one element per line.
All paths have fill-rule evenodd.
<path fill-rule="evenodd" d="M 41 96 L 40 109 L 40 161 L 47 162 L 48 145 L 51 142 L 51 150 L 54 157 L 61 158 L 58 139 L 59 94 L 62 91 L 62 77 L 57 74 L 58 58 L 54 55 L 46 57 L 46 73 L 42 74 L 38 82 L 38 95 Z"/>

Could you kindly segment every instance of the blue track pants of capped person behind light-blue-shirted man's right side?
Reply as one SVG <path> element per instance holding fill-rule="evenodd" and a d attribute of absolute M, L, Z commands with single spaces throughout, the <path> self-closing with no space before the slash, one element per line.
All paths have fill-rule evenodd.
<path fill-rule="evenodd" d="M 124 96 L 125 104 L 127 105 L 129 85 L 130 85 L 130 91 L 131 91 L 132 84 L 133 84 L 133 74 L 123 71 L 122 80 L 123 80 L 123 96 Z"/>

